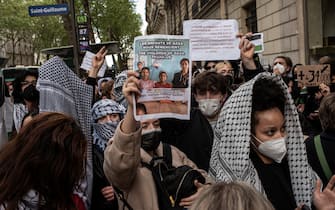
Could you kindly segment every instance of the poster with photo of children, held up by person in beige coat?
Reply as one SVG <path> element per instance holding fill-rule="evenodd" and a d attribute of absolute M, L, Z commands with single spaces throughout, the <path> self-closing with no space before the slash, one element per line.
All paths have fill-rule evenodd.
<path fill-rule="evenodd" d="M 133 99 L 136 120 L 164 117 L 190 119 L 189 47 L 189 39 L 183 36 L 148 35 L 135 38 L 134 66 L 141 61 L 144 67 L 149 68 L 149 72 L 142 69 L 141 96 Z M 149 76 L 145 75 L 148 73 Z M 139 115 L 137 107 L 143 105 L 147 113 Z"/>

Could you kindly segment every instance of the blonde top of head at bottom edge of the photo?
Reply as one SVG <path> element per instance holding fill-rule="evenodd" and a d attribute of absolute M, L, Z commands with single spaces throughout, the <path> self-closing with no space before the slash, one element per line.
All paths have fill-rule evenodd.
<path fill-rule="evenodd" d="M 274 210 L 272 204 L 244 182 L 219 182 L 205 190 L 190 210 Z"/>

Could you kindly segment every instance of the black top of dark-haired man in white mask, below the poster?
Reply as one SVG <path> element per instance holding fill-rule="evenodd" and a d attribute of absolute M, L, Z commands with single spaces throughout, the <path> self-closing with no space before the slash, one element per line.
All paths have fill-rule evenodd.
<path fill-rule="evenodd" d="M 198 168 L 208 170 L 213 145 L 213 130 L 199 109 L 192 108 L 190 120 L 161 119 L 162 141 L 172 144 Z"/>

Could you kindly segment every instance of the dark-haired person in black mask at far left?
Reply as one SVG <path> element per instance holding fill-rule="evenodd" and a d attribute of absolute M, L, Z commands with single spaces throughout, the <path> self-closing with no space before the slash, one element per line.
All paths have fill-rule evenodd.
<path fill-rule="evenodd" d="M 36 89 L 38 78 L 37 71 L 24 70 L 13 83 L 14 98 L 14 126 L 16 131 L 20 130 L 22 119 L 28 112 L 38 111 L 39 91 Z"/>

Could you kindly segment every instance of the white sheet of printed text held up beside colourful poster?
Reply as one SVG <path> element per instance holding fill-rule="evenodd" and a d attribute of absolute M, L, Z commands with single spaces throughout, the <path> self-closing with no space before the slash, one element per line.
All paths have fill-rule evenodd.
<path fill-rule="evenodd" d="M 240 58 L 237 20 L 187 20 L 183 34 L 190 39 L 191 60 L 237 60 Z"/>

